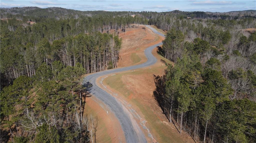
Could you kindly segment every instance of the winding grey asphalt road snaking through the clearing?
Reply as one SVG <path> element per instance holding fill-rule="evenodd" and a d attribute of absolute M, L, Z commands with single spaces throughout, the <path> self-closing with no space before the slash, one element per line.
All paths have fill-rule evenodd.
<path fill-rule="evenodd" d="M 158 32 L 155 30 L 153 27 L 146 25 L 147 28 L 151 29 L 155 34 L 158 34 L 160 36 L 164 37 L 164 34 Z M 161 43 L 158 43 L 156 45 L 150 46 L 147 49 L 145 49 L 144 53 L 147 57 L 147 62 L 139 64 L 139 65 L 134 65 L 134 66 L 129 66 L 129 67 L 123 67 L 123 68 L 116 68 L 116 69 L 111 69 L 111 70 L 105 70 L 102 72 L 97 72 L 91 75 L 88 75 L 83 79 L 83 84 L 86 84 L 87 82 L 90 82 L 93 86 L 92 89 L 90 90 L 91 94 L 96 96 L 98 99 L 100 99 L 103 103 L 109 106 L 109 108 L 112 110 L 112 112 L 115 114 L 116 118 L 119 120 L 121 127 L 124 131 L 125 139 L 126 142 L 147 142 L 143 132 L 141 131 L 140 127 L 137 124 L 134 124 L 134 122 L 131 121 L 130 116 L 128 115 L 125 107 L 116 100 L 115 97 L 104 91 L 103 89 L 99 88 L 98 85 L 96 84 L 97 78 L 100 76 L 112 74 L 112 73 L 118 73 L 118 72 L 123 72 L 126 70 L 133 70 L 137 68 L 143 68 L 146 66 L 150 66 L 156 63 L 156 58 L 152 54 L 152 50 L 157 47 L 162 45 Z"/>

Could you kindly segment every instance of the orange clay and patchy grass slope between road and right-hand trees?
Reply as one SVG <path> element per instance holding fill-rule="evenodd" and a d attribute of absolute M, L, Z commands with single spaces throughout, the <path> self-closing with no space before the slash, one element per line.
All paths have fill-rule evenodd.
<path fill-rule="evenodd" d="M 112 92 L 117 93 L 121 98 L 120 100 L 131 104 L 132 108 L 142 119 L 147 121 L 145 125 L 150 129 L 154 140 L 147 137 L 148 132 L 144 130 L 142 126 L 141 127 L 148 142 L 194 142 L 185 131 L 179 134 L 174 124 L 169 123 L 162 109 L 154 99 L 153 92 L 156 87 L 153 74 L 162 76 L 166 66 L 160 59 L 166 59 L 157 54 L 156 48 L 153 50 L 153 54 L 158 59 L 157 63 L 153 66 L 137 69 L 135 71 L 116 73 L 116 75 L 122 75 L 118 80 L 120 80 L 120 84 L 124 84 L 123 90 L 116 90 L 115 87 L 112 88 L 112 86 L 105 81 L 108 80 L 107 78 L 112 78 L 111 75 L 108 75 L 109 77 L 103 80 L 103 84 Z M 168 63 L 173 64 L 172 62 Z M 104 89 L 103 86 L 101 88 Z M 136 121 L 141 123 L 140 120 Z"/>

